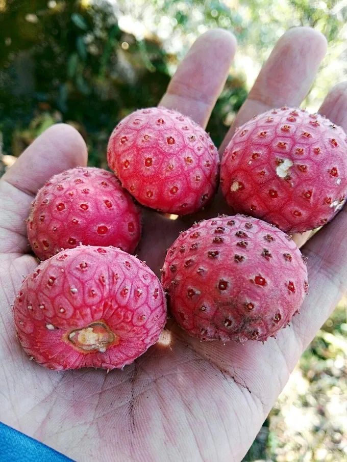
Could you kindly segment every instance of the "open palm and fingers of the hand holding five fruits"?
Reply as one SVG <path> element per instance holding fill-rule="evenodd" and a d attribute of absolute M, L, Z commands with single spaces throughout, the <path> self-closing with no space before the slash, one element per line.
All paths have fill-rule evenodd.
<path fill-rule="evenodd" d="M 235 47 L 226 31 L 201 36 L 161 104 L 205 126 Z M 325 51 L 325 38 L 311 29 L 285 33 L 222 146 L 234 127 L 253 115 L 300 104 Z M 347 84 L 334 87 L 319 112 L 347 130 Z M 24 219 L 46 179 L 86 160 L 78 132 L 56 125 L 0 180 L 0 419 L 77 460 L 241 460 L 302 352 L 346 289 L 346 209 L 303 247 L 310 294 L 301 314 L 277 339 L 264 345 L 201 343 L 169 321 L 161 342 L 123 371 L 49 371 L 22 351 L 10 308 L 22 277 L 37 264 L 28 253 Z M 218 211 L 212 208 L 208 214 Z M 152 211 L 145 212 L 144 220 L 139 256 L 158 271 L 165 249 L 189 224 Z"/>

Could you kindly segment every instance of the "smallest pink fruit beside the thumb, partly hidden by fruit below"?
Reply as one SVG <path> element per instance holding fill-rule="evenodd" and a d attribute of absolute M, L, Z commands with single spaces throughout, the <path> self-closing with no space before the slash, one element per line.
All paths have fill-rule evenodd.
<path fill-rule="evenodd" d="M 133 252 L 141 235 L 141 212 L 110 172 L 77 167 L 55 175 L 39 190 L 27 222 L 40 260 L 81 242 Z"/>

